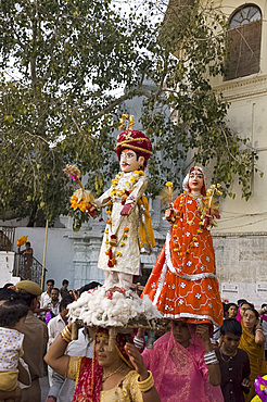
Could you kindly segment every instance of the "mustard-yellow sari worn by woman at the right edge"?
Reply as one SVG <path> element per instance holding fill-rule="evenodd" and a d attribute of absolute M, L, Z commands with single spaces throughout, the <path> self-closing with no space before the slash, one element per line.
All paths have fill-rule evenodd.
<path fill-rule="evenodd" d="M 252 388 L 250 390 L 250 393 L 244 393 L 245 402 L 249 402 L 252 400 L 253 397 L 256 395 L 256 391 L 254 389 L 254 380 L 257 376 L 264 376 L 267 372 L 266 369 L 266 362 L 265 362 L 265 350 L 264 344 L 257 344 L 255 342 L 255 335 L 250 334 L 243 325 L 242 325 L 242 336 L 240 340 L 239 348 L 243 349 L 250 359 L 250 365 L 251 365 L 251 375 L 250 379 L 252 382 Z"/>

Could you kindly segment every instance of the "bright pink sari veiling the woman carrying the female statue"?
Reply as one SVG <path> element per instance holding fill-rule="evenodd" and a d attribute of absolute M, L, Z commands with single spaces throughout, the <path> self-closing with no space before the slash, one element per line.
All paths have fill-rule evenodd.
<path fill-rule="evenodd" d="M 162 402 L 224 402 L 220 387 L 207 382 L 208 368 L 201 342 L 192 334 L 187 350 L 175 340 L 170 331 L 157 339 L 154 349 L 143 351 L 144 364 L 153 374 Z"/>

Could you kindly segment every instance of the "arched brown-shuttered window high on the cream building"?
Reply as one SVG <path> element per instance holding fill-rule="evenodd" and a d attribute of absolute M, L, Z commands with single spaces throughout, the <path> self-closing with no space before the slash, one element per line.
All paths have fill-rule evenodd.
<path fill-rule="evenodd" d="M 262 13 L 255 4 L 244 4 L 229 21 L 229 52 L 225 80 L 259 72 Z"/>

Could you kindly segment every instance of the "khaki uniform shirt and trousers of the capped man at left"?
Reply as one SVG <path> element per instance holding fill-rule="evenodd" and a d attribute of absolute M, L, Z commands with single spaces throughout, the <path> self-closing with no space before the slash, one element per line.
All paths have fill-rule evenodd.
<path fill-rule="evenodd" d="M 44 323 L 34 316 L 34 313 L 29 311 L 22 332 L 25 335 L 23 357 L 29 367 L 31 386 L 22 390 L 21 402 L 40 402 L 41 389 L 39 377 L 43 376 L 43 355 L 48 342 L 48 328 Z"/>

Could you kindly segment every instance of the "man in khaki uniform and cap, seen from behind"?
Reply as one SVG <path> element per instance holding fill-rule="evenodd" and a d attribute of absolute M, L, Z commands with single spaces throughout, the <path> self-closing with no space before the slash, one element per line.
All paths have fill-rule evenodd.
<path fill-rule="evenodd" d="M 48 342 L 48 329 L 44 323 L 34 315 L 37 297 L 41 294 L 39 285 L 31 280 L 21 280 L 16 284 L 17 293 L 29 306 L 22 332 L 24 336 L 24 361 L 29 367 L 31 386 L 22 390 L 21 402 L 40 402 L 41 389 L 39 378 L 43 376 L 43 354 Z"/>

